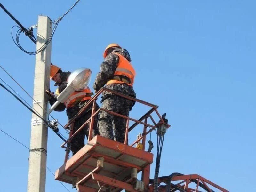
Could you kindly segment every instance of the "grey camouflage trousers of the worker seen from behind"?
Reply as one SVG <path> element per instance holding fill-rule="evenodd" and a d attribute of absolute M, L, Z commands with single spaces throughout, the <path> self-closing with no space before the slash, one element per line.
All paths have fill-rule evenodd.
<path fill-rule="evenodd" d="M 104 99 L 102 108 L 124 116 L 129 116 L 132 101 L 117 95 L 109 95 Z M 126 119 L 114 116 L 105 111 L 100 111 L 98 124 L 100 136 L 124 143 Z"/>

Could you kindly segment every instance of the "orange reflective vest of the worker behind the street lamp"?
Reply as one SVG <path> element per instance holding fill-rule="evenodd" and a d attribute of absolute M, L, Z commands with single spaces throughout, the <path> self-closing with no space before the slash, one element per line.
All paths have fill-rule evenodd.
<path fill-rule="evenodd" d="M 58 94 L 59 94 L 59 90 L 57 89 L 56 95 L 58 95 Z M 75 105 L 76 101 L 90 100 L 92 98 L 91 97 L 92 95 L 93 95 L 93 93 L 91 92 L 89 87 L 87 87 L 83 91 L 75 91 L 64 102 L 64 105 L 66 106 L 66 108 L 72 107 Z"/>

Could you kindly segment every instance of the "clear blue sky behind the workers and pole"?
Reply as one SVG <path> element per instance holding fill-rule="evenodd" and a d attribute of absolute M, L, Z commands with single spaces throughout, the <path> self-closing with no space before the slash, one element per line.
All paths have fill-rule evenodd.
<path fill-rule="evenodd" d="M 74 2 L 1 1 L 25 27 L 36 24 L 40 14 L 56 20 Z M 137 97 L 157 104 L 172 125 L 159 176 L 197 173 L 229 191 L 256 191 L 255 6 L 254 1 L 238 0 L 80 1 L 55 32 L 52 63 L 64 71 L 90 68 L 93 81 L 104 48 L 119 43 L 131 54 Z M 14 21 L 2 10 L 0 18 L 0 64 L 32 95 L 35 56 L 12 42 Z M 21 43 L 35 50 L 24 35 Z M 0 77 L 32 104 L 3 70 Z M 1 129 L 29 146 L 31 112 L 2 88 L 0 99 Z M 130 116 L 143 113 L 136 104 Z M 52 115 L 67 122 L 65 112 Z M 132 132 L 129 140 L 141 131 Z M 156 146 L 156 132 L 151 139 Z M 61 143 L 49 130 L 47 166 L 53 172 L 63 164 Z M 1 191 L 26 191 L 28 150 L 3 133 L 0 145 Z M 47 171 L 46 191 L 65 190 Z"/>

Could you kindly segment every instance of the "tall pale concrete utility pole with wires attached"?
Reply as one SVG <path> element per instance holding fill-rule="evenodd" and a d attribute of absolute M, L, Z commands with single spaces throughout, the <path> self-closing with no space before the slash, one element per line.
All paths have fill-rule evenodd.
<path fill-rule="evenodd" d="M 47 16 L 38 17 L 36 50 L 40 49 L 49 39 L 52 32 L 51 20 Z M 47 119 L 47 96 L 45 90 L 50 87 L 50 64 L 51 64 L 50 43 L 42 52 L 36 54 L 34 100 L 33 108 L 44 119 Z M 28 192 L 44 192 L 46 178 L 46 153 L 47 153 L 48 128 L 42 120 L 32 114 L 31 138 L 28 168 Z M 36 153 L 34 153 L 35 151 Z M 39 155 L 38 155 L 39 154 Z"/>

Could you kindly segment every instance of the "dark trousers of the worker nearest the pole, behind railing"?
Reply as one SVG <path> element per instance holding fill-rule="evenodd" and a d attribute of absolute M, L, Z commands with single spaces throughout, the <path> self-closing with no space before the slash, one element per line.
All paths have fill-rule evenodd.
<path fill-rule="evenodd" d="M 70 110 L 67 110 L 68 119 L 70 120 L 76 113 L 86 104 L 86 102 L 80 102 L 77 106 L 72 107 Z M 97 108 L 99 106 L 97 105 Z M 92 115 L 92 106 L 89 110 L 86 110 L 80 117 L 76 118 L 73 126 L 73 134 L 91 117 Z M 98 115 L 94 117 L 93 122 L 93 130 L 92 130 L 92 137 L 99 135 L 98 130 Z M 85 136 L 88 139 L 89 135 L 89 126 L 90 124 L 86 124 L 82 130 L 80 130 L 71 140 L 71 151 L 73 155 L 76 154 L 81 148 L 84 147 L 84 139 Z"/>

